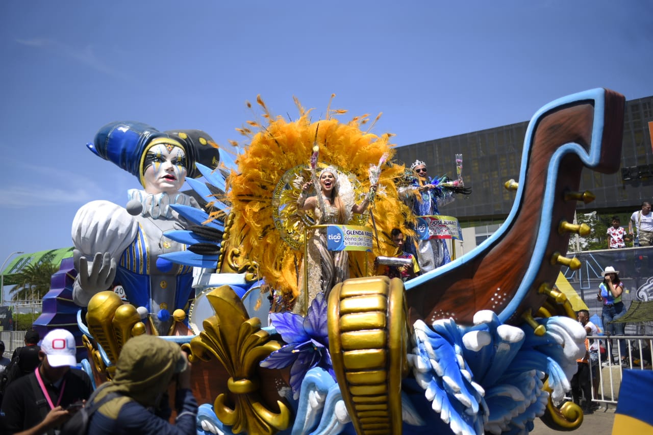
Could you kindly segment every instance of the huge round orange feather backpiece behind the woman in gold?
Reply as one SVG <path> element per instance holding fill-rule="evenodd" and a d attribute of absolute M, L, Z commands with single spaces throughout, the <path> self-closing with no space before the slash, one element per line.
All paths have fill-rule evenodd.
<path fill-rule="evenodd" d="M 292 305 L 304 285 L 304 229 L 315 225 L 321 217 L 320 212 L 315 212 L 319 207 L 307 207 L 306 202 L 303 206 L 306 212 L 302 210 L 298 202 L 302 187 L 308 189 L 307 183 L 311 183 L 316 192 L 321 192 L 317 174 L 325 174 L 327 171 L 323 169 L 332 167 L 330 171 L 338 180 L 336 188 L 340 189 L 340 197 L 347 196 L 350 204 L 344 207 L 349 217 L 338 219 L 338 223 L 375 228 L 374 255 L 367 259 L 368 264 L 364 253 L 353 251 L 348 256 L 348 264 L 338 266 L 347 269 L 341 276 L 363 276 L 375 255 L 389 255 L 394 250 L 390 230 L 405 227 L 409 210 L 399 200 L 394 184 L 404 167 L 385 163 L 394 155 L 389 143 L 391 135 L 379 137 L 369 130 L 363 131 L 361 126 L 368 122 L 367 115 L 340 123 L 333 115 L 346 111 L 327 107 L 326 119 L 311 121 L 311 110 L 302 108 L 295 99 L 300 116 L 298 120 L 286 121 L 281 116 L 273 116 L 260 96 L 257 103 L 263 109 L 264 121 L 248 121 L 248 127 L 238 129 L 249 142 L 242 144 L 244 153 L 236 159 L 238 172 L 232 171 L 227 180 L 227 200 L 233 216 L 230 241 L 238 240 L 242 251 L 259 265 L 266 283 Z M 371 183 L 373 168 L 378 179 Z M 360 210 L 362 214 L 352 215 L 353 205 L 363 205 L 372 184 L 378 188 L 369 197 L 372 198 L 370 207 L 366 212 L 364 208 Z M 349 190 L 347 195 L 343 195 L 343 189 Z M 311 266 L 309 272 L 315 276 Z M 308 303 L 302 300 L 295 311 L 305 312 Z"/>

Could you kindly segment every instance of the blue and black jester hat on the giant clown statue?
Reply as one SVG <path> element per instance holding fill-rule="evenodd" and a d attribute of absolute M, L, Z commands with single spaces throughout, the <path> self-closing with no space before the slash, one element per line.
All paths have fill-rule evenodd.
<path fill-rule="evenodd" d="M 144 185 L 143 163 L 148 150 L 156 144 L 171 144 L 184 150 L 187 159 L 187 176 L 201 174 L 195 163 L 211 169 L 220 159 L 214 140 L 201 130 L 159 131 L 142 122 L 119 121 L 104 125 L 95 140 L 86 144 L 88 149 L 104 160 L 111 161 L 133 174 Z"/>

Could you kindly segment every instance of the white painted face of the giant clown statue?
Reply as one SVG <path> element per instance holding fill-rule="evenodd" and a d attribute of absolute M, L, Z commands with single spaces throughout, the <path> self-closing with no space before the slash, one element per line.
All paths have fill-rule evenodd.
<path fill-rule="evenodd" d="M 170 144 L 156 144 L 143 162 L 144 187 L 147 193 L 176 193 L 186 179 L 186 153 Z"/>

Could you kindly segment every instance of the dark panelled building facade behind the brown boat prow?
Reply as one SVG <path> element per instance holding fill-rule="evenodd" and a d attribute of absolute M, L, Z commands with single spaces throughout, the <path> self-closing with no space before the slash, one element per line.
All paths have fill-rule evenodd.
<path fill-rule="evenodd" d="M 431 176 L 456 178 L 454 158 L 462 153 L 465 185 L 473 189 L 466 199 L 440 212 L 466 225 L 487 227 L 492 233 L 508 216 L 515 193 L 503 184 L 519 180 L 522 148 L 528 121 L 464 135 L 429 140 L 397 148 L 396 158 L 411 165 L 426 162 Z M 615 174 L 583 170 L 581 189 L 596 195 L 590 204 L 578 203 L 579 213 L 634 212 L 643 201 L 653 201 L 653 96 L 626 102 L 621 169 Z M 483 231 L 483 230 L 482 230 Z M 479 234 L 477 229 L 477 234 Z"/>

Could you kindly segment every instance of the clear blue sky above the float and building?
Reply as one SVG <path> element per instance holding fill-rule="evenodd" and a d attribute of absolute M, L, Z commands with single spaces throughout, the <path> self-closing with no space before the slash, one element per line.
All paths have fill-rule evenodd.
<path fill-rule="evenodd" d="M 528 120 L 590 88 L 653 95 L 653 3 L 2 1 L 0 261 L 71 246 L 85 202 L 134 176 L 86 149 L 110 121 L 219 144 L 261 94 L 296 115 L 383 112 L 398 145 Z M 348 120 L 349 115 L 343 119 Z"/>

